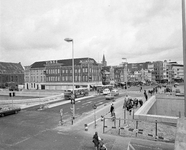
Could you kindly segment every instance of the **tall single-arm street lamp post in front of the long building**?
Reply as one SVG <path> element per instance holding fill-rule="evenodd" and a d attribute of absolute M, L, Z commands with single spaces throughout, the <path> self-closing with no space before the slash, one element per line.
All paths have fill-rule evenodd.
<path fill-rule="evenodd" d="M 65 38 L 64 39 L 66 42 L 72 42 L 72 106 L 73 106 L 73 113 L 72 113 L 72 124 L 73 124 L 73 119 L 75 119 L 75 95 L 74 95 L 74 40 L 71 38 Z"/>

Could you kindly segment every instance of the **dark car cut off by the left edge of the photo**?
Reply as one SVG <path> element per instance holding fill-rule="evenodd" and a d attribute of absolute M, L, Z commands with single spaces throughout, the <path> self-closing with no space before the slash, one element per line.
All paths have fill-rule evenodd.
<path fill-rule="evenodd" d="M 7 115 L 17 114 L 19 111 L 21 111 L 21 108 L 0 108 L 0 116 L 4 117 Z"/>

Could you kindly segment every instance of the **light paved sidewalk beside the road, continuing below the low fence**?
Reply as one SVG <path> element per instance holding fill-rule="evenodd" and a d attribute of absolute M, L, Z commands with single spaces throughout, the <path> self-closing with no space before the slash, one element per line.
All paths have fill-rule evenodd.
<path fill-rule="evenodd" d="M 143 92 L 140 93 L 139 91 L 132 91 L 131 93 L 135 95 L 135 98 L 142 99 L 143 102 L 145 103 Z M 128 92 L 127 94 L 130 95 L 130 92 Z M 161 149 L 161 148 L 162 150 L 173 150 L 172 149 L 174 147 L 173 143 L 169 144 L 161 141 L 140 139 L 140 138 L 136 138 L 135 136 L 123 136 L 123 135 L 121 136 L 118 134 L 118 130 L 112 130 L 112 127 L 114 127 L 114 122 L 111 120 L 111 114 L 109 112 L 110 106 L 111 104 L 114 104 L 116 118 L 123 119 L 124 118 L 123 102 L 124 102 L 124 97 L 118 99 L 116 98 L 114 101 L 110 100 L 110 103 L 94 109 L 88 115 L 86 114 L 85 116 L 81 116 L 80 118 L 75 119 L 73 125 L 59 126 L 56 129 L 60 131 L 61 130 L 76 131 L 79 134 L 84 135 L 84 137 L 88 139 L 86 140 L 86 142 L 84 142 L 84 145 L 90 145 L 91 143 L 92 146 L 93 146 L 93 143 L 91 142 L 92 137 L 95 132 L 98 132 L 98 135 L 103 139 L 108 150 L 128 150 L 129 145 L 131 145 L 130 143 L 134 143 L 135 145 L 138 146 L 141 145 L 142 147 L 145 146 L 146 149 L 149 150 Z M 126 111 L 126 119 L 132 120 L 133 119 L 132 114 L 135 113 L 137 109 L 134 109 L 134 112 L 132 112 L 131 114 L 129 114 L 129 112 Z M 102 121 L 103 118 L 102 116 L 104 116 L 104 118 L 107 118 L 105 120 L 105 125 L 107 126 L 107 128 L 105 128 L 104 132 L 103 132 L 104 121 Z M 126 124 L 123 123 L 123 125 L 127 126 L 127 123 Z"/>

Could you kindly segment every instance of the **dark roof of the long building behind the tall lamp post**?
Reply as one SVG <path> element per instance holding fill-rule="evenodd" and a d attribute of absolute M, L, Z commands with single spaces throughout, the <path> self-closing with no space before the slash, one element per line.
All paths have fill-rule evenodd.
<path fill-rule="evenodd" d="M 94 65 L 98 65 L 98 63 L 93 58 L 74 58 L 74 65 L 78 66 L 81 64 L 88 63 L 88 60 L 90 63 L 93 63 Z M 39 61 L 35 62 L 31 65 L 31 68 L 44 68 L 47 63 L 58 63 L 62 66 L 72 66 L 72 59 L 62 59 L 62 60 L 48 60 L 48 61 Z"/>

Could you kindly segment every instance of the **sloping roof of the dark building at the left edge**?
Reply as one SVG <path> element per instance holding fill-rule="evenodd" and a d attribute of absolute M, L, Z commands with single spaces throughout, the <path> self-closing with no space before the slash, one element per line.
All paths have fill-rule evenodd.
<path fill-rule="evenodd" d="M 21 63 L 0 62 L 0 74 L 23 74 Z"/>

